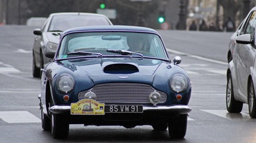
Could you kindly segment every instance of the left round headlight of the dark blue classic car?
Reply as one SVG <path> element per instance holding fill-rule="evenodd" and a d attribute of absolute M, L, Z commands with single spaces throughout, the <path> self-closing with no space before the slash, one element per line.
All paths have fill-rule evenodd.
<path fill-rule="evenodd" d="M 74 89 L 74 78 L 69 74 L 59 75 L 57 80 L 57 88 L 61 93 L 68 93 Z"/>

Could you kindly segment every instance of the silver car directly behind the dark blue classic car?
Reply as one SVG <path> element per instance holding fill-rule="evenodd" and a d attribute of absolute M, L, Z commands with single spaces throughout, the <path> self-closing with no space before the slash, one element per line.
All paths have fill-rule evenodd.
<path fill-rule="evenodd" d="M 105 16 L 96 13 L 52 13 L 47 18 L 43 28 L 34 30 L 34 45 L 32 49 L 32 75 L 41 76 L 41 68 L 52 59 L 45 56 L 46 52 L 55 52 L 59 43 L 59 34 L 68 28 L 80 26 L 112 25 Z"/>

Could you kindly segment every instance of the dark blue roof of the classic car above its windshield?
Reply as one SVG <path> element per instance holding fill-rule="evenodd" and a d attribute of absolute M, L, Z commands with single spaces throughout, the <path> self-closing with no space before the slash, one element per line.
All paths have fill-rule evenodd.
<path fill-rule="evenodd" d="M 77 33 L 77 32 L 113 32 L 113 31 L 120 31 L 120 32 L 145 32 L 145 33 L 152 33 L 158 34 L 156 30 L 151 28 L 145 28 L 140 26 L 84 26 L 79 28 L 72 28 L 66 30 L 62 33 L 62 35 L 70 34 L 70 33 Z"/>

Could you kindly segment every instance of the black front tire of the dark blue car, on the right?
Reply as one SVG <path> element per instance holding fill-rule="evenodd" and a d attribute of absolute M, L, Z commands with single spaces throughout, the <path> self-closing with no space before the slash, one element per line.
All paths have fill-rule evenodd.
<path fill-rule="evenodd" d="M 186 135 L 187 122 L 188 114 L 181 114 L 172 118 L 168 122 L 168 132 L 170 138 L 184 138 Z"/>

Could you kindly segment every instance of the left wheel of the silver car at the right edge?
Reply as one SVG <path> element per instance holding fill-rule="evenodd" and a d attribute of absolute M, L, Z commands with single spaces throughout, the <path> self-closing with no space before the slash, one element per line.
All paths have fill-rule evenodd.
<path fill-rule="evenodd" d="M 240 113 L 242 111 L 242 102 L 234 99 L 233 83 L 231 74 L 228 75 L 226 87 L 226 109 L 230 113 Z"/>

